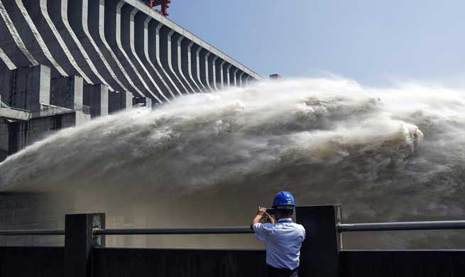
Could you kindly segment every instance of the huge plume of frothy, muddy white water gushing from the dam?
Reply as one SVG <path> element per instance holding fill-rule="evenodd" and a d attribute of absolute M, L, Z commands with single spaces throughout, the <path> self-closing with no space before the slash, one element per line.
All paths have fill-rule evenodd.
<path fill-rule="evenodd" d="M 197 219 L 195 209 L 219 222 L 234 211 L 235 224 L 280 189 L 300 204 L 339 202 L 349 221 L 461 218 L 464 183 L 465 92 L 341 79 L 181 97 L 59 131 L 0 163 L 2 191 L 99 191 Z"/>

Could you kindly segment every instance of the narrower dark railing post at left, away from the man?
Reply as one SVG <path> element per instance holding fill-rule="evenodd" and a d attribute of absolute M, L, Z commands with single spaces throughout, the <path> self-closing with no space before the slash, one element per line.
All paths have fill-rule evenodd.
<path fill-rule="evenodd" d="M 104 246 L 92 229 L 105 228 L 105 214 L 67 214 L 65 217 L 65 276 L 91 277 L 93 246 Z"/>

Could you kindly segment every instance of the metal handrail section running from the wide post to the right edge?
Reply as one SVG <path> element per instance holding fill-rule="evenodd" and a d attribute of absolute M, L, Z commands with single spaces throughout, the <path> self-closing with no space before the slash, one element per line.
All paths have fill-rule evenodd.
<path fill-rule="evenodd" d="M 465 229 L 465 220 L 339 224 L 339 232 Z"/>

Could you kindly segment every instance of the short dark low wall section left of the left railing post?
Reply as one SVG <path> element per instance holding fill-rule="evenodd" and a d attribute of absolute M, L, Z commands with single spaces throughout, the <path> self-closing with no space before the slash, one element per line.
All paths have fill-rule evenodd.
<path fill-rule="evenodd" d="M 0 247 L 0 277 L 64 277 L 64 247 Z"/>

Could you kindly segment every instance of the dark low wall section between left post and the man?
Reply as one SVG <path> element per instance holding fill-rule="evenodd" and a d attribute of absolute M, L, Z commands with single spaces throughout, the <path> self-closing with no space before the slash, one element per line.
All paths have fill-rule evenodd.
<path fill-rule="evenodd" d="M 94 276 L 261 277 L 265 251 L 93 249 Z"/>

